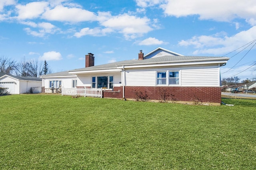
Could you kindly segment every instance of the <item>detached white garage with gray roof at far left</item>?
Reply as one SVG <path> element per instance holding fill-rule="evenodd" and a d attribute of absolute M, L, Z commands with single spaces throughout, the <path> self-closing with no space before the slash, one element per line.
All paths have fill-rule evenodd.
<path fill-rule="evenodd" d="M 10 94 L 40 93 L 41 86 L 42 78 L 0 73 L 0 87 L 8 88 Z"/>

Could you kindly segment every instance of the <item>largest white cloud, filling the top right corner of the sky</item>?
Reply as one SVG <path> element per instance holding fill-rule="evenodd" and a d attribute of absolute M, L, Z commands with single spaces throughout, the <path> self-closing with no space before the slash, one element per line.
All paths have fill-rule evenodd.
<path fill-rule="evenodd" d="M 199 15 L 201 20 L 232 21 L 255 18 L 255 0 L 166 0 L 160 5 L 168 16 Z"/>

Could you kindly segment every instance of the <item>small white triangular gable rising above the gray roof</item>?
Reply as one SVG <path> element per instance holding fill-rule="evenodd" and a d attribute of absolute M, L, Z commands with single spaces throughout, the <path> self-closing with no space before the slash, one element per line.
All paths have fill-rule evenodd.
<path fill-rule="evenodd" d="M 162 57 L 162 56 L 183 56 L 183 55 L 158 47 L 157 49 L 154 49 L 153 51 L 144 55 L 144 59 L 150 59 L 150 58 L 156 58 L 156 57 Z"/>

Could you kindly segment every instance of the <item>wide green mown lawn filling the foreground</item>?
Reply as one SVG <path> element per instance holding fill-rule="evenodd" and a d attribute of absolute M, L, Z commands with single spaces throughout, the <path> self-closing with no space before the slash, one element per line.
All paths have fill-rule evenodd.
<path fill-rule="evenodd" d="M 0 96 L 0 169 L 255 170 L 256 100 Z"/>

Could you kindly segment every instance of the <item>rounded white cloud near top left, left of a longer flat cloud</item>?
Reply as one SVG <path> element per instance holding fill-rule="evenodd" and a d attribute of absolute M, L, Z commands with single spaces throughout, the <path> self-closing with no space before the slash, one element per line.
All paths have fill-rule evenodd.
<path fill-rule="evenodd" d="M 18 19 L 34 19 L 38 18 L 48 8 L 48 2 L 30 2 L 26 5 L 16 5 Z"/>

